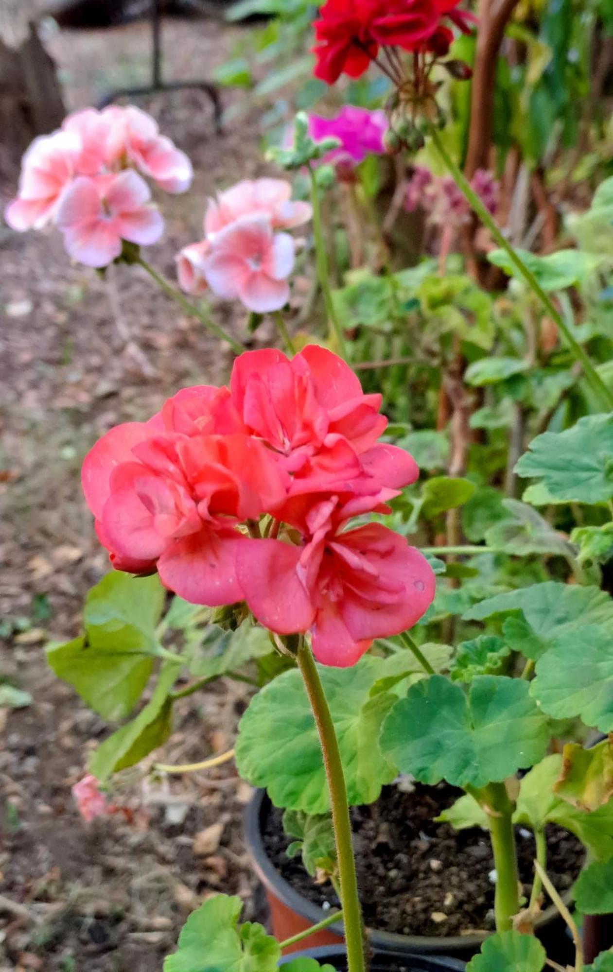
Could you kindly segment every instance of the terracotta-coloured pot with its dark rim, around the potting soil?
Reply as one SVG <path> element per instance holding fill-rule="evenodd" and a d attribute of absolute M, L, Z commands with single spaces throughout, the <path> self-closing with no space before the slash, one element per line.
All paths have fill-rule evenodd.
<path fill-rule="evenodd" d="M 269 811 L 270 800 L 266 790 L 256 790 L 245 811 L 245 841 L 253 869 L 266 890 L 272 933 L 279 941 L 283 941 L 325 919 L 326 912 L 288 884 L 270 861 L 262 837 L 263 824 Z M 562 963 L 574 961 L 572 943 L 566 936 L 565 925 L 555 907 L 543 912 L 536 930 L 548 955 Z M 376 929 L 369 929 L 368 935 L 377 952 L 391 951 L 396 955 L 421 956 L 438 954 L 465 960 L 479 952 L 482 942 L 487 938 L 487 932 L 435 938 L 399 935 Z M 329 925 L 309 937 L 308 941 L 313 947 L 339 946 L 343 942 L 343 925 Z M 298 943 L 290 946 L 287 952 L 300 949 L 301 943 Z"/>

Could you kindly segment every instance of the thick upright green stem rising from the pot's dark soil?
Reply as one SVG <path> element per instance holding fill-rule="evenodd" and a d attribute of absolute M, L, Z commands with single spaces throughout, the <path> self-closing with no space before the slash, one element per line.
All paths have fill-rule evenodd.
<path fill-rule="evenodd" d="M 489 839 L 496 869 L 496 931 L 509 931 L 520 910 L 520 876 L 513 832 L 513 804 L 504 783 L 489 783 L 477 793 L 487 811 Z"/>

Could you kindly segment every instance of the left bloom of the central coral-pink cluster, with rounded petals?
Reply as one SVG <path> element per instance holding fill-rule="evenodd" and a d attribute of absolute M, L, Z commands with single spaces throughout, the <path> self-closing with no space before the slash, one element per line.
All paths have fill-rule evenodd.
<path fill-rule="evenodd" d="M 189 422 L 206 401 L 221 423 L 232 420 L 225 396 L 176 399 L 169 424 L 183 420 L 181 402 Z M 117 426 L 86 456 L 83 489 L 98 538 L 118 570 L 157 569 L 166 587 L 194 604 L 232 604 L 241 598 L 236 546 L 246 542 L 235 527 L 282 503 L 287 475 L 252 437 L 166 432 L 163 422 L 164 409 L 151 423 Z"/>

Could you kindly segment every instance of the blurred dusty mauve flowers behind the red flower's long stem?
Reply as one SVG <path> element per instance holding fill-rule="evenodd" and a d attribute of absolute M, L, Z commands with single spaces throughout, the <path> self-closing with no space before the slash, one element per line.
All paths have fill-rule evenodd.
<path fill-rule="evenodd" d="M 487 169 L 478 169 L 470 183 L 481 196 L 489 213 L 496 211 L 498 183 Z M 407 185 L 405 209 L 422 209 L 434 226 L 461 226 L 468 222 L 471 208 L 451 176 L 435 176 L 422 165 L 415 165 Z"/>

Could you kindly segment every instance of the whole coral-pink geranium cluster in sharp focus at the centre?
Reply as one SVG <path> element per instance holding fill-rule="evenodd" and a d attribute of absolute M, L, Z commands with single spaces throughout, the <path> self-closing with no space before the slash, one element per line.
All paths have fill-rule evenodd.
<path fill-rule="evenodd" d="M 309 631 L 317 659 L 351 665 L 415 624 L 434 596 L 425 558 L 379 523 L 418 469 L 380 443 L 380 395 L 309 346 L 234 362 L 230 387 L 197 386 L 93 446 L 83 486 L 115 568 L 158 571 L 187 601 L 246 601 L 270 631 Z"/>

